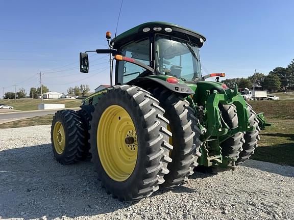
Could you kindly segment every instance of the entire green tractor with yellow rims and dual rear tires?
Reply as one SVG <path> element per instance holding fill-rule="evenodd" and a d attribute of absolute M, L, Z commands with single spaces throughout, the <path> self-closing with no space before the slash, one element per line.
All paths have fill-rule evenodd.
<path fill-rule="evenodd" d="M 197 166 L 235 169 L 254 153 L 267 124 L 237 87 L 218 82 L 224 73 L 201 74 L 203 35 L 149 22 L 106 38 L 109 49 L 80 53 L 80 71 L 89 71 L 88 52 L 110 54 L 111 87 L 53 119 L 60 163 L 91 158 L 107 193 L 134 201 L 182 184 Z"/>

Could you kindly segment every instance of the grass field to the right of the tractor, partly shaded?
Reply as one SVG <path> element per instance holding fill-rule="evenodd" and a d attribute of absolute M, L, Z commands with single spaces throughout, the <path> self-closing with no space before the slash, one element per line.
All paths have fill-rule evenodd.
<path fill-rule="evenodd" d="M 250 101 L 256 113 L 273 123 L 260 133 L 252 159 L 294 166 L 294 100 Z"/>

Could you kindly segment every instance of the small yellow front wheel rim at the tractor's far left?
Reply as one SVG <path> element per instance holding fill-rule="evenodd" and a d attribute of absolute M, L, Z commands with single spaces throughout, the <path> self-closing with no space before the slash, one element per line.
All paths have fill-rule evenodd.
<path fill-rule="evenodd" d="M 56 122 L 53 128 L 53 144 L 55 151 L 62 154 L 65 147 L 65 132 L 61 122 Z"/>

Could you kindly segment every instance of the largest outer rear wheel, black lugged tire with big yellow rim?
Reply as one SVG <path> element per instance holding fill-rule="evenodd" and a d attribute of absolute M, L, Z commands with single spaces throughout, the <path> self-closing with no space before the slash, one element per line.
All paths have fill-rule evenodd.
<path fill-rule="evenodd" d="M 158 104 L 149 92 L 124 85 L 110 88 L 94 106 L 90 122 L 92 162 L 102 185 L 119 201 L 150 196 L 168 173 L 171 133 L 166 129 L 169 122 L 163 117 L 164 109 Z M 127 149 L 129 133 L 134 134 L 130 150 L 135 154 Z M 131 156 L 126 158 L 124 152 Z M 129 163 L 124 163 L 126 160 Z"/>

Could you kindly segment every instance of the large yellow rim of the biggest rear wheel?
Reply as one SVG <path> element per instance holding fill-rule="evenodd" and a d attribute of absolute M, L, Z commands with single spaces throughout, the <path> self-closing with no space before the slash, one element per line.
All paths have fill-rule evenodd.
<path fill-rule="evenodd" d="M 111 105 L 102 114 L 97 128 L 97 150 L 111 179 L 122 182 L 132 175 L 138 155 L 137 132 L 121 106 Z"/>

